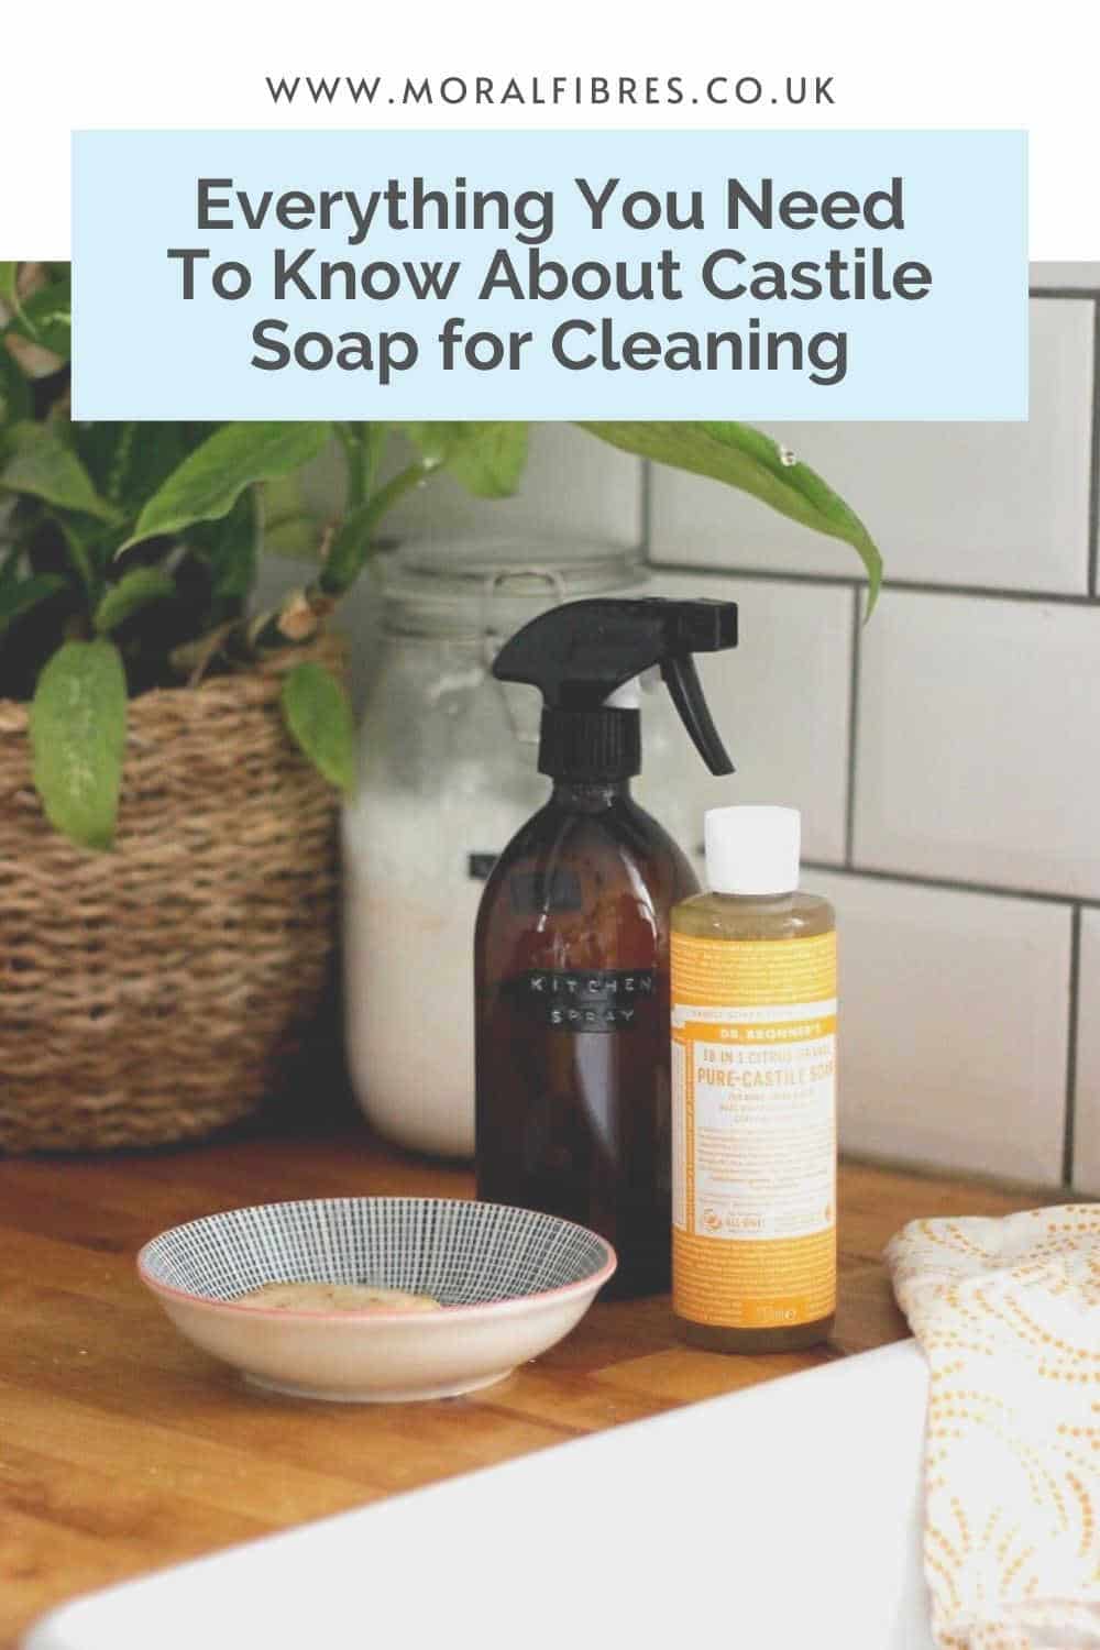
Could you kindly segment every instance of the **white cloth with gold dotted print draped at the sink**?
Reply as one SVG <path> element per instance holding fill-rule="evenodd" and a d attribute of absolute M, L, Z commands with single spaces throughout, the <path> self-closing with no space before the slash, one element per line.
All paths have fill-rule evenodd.
<path fill-rule="evenodd" d="M 886 1257 L 930 1366 L 937 1643 L 1100 1647 L 1100 1208 L 912 1221 Z"/>

